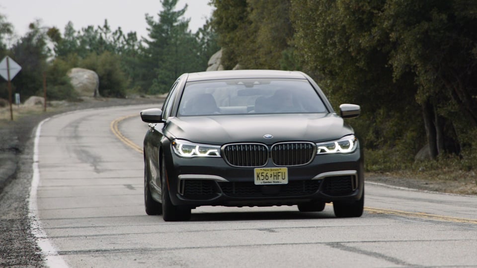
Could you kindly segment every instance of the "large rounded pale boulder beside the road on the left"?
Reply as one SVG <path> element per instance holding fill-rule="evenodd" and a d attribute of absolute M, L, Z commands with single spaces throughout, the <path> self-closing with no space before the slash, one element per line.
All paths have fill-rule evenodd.
<path fill-rule="evenodd" d="M 99 77 L 93 70 L 72 68 L 68 72 L 73 88 L 81 97 L 99 97 Z"/>

